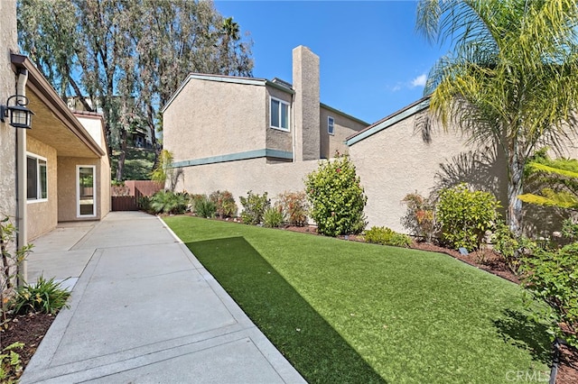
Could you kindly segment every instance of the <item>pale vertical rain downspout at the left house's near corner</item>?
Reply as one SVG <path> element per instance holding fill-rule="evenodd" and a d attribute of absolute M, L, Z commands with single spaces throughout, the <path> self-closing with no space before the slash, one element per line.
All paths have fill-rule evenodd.
<path fill-rule="evenodd" d="M 16 84 L 16 95 L 26 96 L 26 82 L 28 81 L 28 70 L 19 69 L 18 82 Z M 16 128 L 16 201 L 18 204 L 16 223 L 18 235 L 16 246 L 22 248 L 28 243 L 28 230 L 26 228 L 26 130 Z M 22 287 L 28 280 L 28 265 L 24 259 L 18 265 L 18 286 Z"/>

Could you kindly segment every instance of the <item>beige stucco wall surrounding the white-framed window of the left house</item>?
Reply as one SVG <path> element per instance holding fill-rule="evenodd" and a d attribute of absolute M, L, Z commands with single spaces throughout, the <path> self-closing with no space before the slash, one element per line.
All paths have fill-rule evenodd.
<path fill-rule="evenodd" d="M 39 142 L 30 135 L 26 140 L 26 150 L 32 155 L 46 159 L 47 167 L 47 201 L 28 201 L 26 206 L 28 240 L 33 240 L 42 233 L 50 232 L 58 224 L 58 160 L 54 148 Z"/>

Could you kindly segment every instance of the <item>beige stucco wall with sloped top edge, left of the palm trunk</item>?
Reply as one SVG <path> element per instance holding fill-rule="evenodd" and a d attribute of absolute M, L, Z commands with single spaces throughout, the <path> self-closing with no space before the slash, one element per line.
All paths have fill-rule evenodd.
<path fill-rule="evenodd" d="M 368 197 L 368 228 L 385 225 L 406 233 L 400 222 L 406 214 L 403 198 L 414 192 L 427 197 L 443 178 L 475 181 L 480 169 L 468 169 L 473 164 L 468 159 L 471 151 L 459 133 L 436 130 L 431 142 L 424 142 L 422 134 L 415 132 L 415 115 L 350 146 L 351 160 Z M 441 164 L 446 164 L 445 171 Z M 492 175 L 496 169 L 487 170 L 488 179 L 498 178 Z"/>

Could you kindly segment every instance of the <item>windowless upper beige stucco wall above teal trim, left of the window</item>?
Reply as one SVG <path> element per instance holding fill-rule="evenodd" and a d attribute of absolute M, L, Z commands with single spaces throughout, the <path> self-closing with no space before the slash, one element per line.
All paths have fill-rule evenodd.
<path fill-rule="evenodd" d="M 175 161 L 266 147 L 266 87 L 192 78 L 163 113 Z"/>

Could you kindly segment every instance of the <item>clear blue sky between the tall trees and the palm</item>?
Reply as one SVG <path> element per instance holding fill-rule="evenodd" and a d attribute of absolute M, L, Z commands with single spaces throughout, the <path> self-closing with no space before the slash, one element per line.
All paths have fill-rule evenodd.
<path fill-rule="evenodd" d="M 292 50 L 321 62 L 321 101 L 368 123 L 423 96 L 449 50 L 415 32 L 415 1 L 215 1 L 250 33 L 256 78 L 292 81 Z"/>

